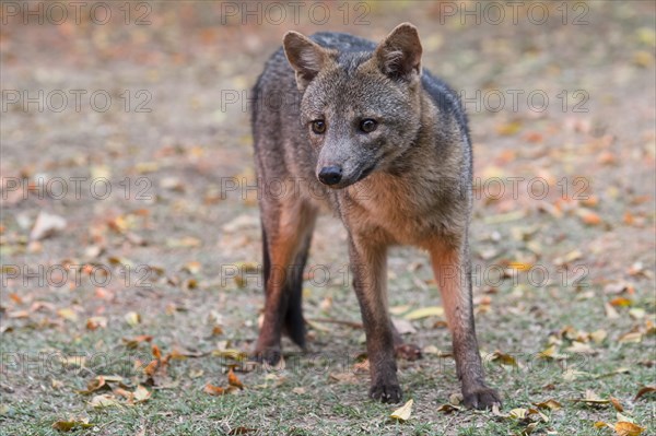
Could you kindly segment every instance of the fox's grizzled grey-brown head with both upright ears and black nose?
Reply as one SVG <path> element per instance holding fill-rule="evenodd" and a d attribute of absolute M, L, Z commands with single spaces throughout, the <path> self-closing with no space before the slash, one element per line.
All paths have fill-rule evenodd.
<path fill-rule="evenodd" d="M 317 178 L 344 188 L 385 172 L 421 126 L 421 43 L 409 23 L 373 51 L 337 51 L 296 32 L 283 39 L 296 73 L 301 122 L 317 153 Z"/>

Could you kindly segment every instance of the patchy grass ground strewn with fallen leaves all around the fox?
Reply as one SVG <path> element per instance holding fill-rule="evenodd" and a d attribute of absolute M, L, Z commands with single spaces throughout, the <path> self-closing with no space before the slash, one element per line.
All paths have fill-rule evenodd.
<path fill-rule="evenodd" d="M 541 410 L 532 434 L 612 435 L 594 425 L 618 421 L 611 403 L 573 401 L 587 390 L 616 398 L 643 435 L 656 434 L 654 394 L 634 399 L 656 386 L 656 13 L 652 2 L 618 3 L 582 2 L 589 7 L 582 26 L 457 17 L 437 25 L 440 3 L 424 2 L 366 3 L 367 26 L 329 23 L 377 38 L 412 21 L 426 68 L 467 96 L 539 89 L 555 102 L 546 111 L 468 106 L 477 330 L 503 409 L 438 411 L 459 386 L 444 319 L 431 316 L 408 321 L 407 340 L 424 357 L 399 362 L 405 399 L 414 401 L 403 423 L 389 419 L 400 404 L 367 399 L 345 234 L 330 217 L 318 223 L 306 271 L 309 352 L 285 341 L 284 368 L 248 372 L 225 356 L 253 350 L 263 298 L 255 195 L 222 191 L 231 177 L 254 184 L 248 117 L 219 106 L 222 91 L 255 81 L 288 26 L 218 26 L 207 2 L 156 3 L 152 17 L 163 24 L 150 27 L 3 26 L 3 90 L 148 90 L 153 110 L 3 114 L 3 177 L 102 176 L 115 195 L 16 196 L 3 179 L 0 434 L 55 435 L 55 422 L 84 419 L 93 426 L 72 434 L 520 435 L 529 423 L 506 415 L 553 399 L 562 409 Z M 561 13 L 559 4 L 550 11 Z M 329 28 L 305 21 L 301 30 Z M 575 113 L 572 102 L 563 109 L 563 90 L 586 91 L 589 110 Z M 509 177 L 524 177 L 517 196 Z M 536 177 L 550 187 L 543 198 L 528 190 Z M 497 178 L 506 180 L 500 198 L 489 185 Z M 138 196 L 144 187 L 148 196 Z M 31 240 L 44 211 L 66 227 Z M 395 318 L 441 304 L 424 254 L 395 248 L 388 263 Z M 57 267 L 69 264 L 80 266 L 71 270 L 80 280 L 59 285 Z M 139 335 L 152 338 L 125 341 Z M 208 384 L 227 388 L 233 364 L 245 388 L 207 393 Z M 114 378 L 79 392 L 99 375 L 122 385 Z M 138 386 L 151 396 L 130 404 L 126 392 Z M 98 394 L 118 405 L 93 406 Z"/>

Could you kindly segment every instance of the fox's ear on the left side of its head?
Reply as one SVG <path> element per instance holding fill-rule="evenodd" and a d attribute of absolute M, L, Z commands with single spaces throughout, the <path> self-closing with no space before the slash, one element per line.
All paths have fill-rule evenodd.
<path fill-rule="evenodd" d="M 288 32 L 282 39 L 284 54 L 292 68 L 296 71 L 298 91 L 321 71 L 328 60 L 328 50 L 297 32 Z"/>

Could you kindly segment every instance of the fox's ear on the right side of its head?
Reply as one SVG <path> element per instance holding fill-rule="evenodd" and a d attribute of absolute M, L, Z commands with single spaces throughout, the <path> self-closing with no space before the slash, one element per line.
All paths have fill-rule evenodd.
<path fill-rule="evenodd" d="M 421 43 L 417 27 L 402 23 L 378 45 L 374 57 L 380 71 L 393 79 L 421 74 Z"/>

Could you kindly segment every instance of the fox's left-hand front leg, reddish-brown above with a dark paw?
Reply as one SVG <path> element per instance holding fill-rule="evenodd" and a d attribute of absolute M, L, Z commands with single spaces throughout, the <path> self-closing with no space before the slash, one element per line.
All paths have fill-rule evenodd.
<path fill-rule="evenodd" d="M 349 244 L 353 287 L 360 303 L 370 361 L 370 397 L 382 402 L 401 401 L 397 379 L 391 320 L 387 313 L 387 250 L 366 238 Z"/>

